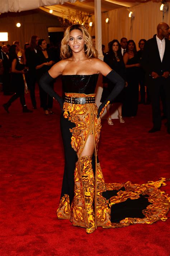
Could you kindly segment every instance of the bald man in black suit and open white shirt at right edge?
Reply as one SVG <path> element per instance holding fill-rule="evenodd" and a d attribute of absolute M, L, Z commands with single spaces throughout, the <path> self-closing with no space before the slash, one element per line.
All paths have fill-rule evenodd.
<path fill-rule="evenodd" d="M 169 25 L 162 22 L 157 26 L 157 35 L 149 39 L 144 47 L 141 65 L 146 71 L 146 82 L 151 95 L 153 128 L 149 133 L 161 129 L 160 94 L 166 94 L 167 132 L 170 134 L 170 41 Z"/>

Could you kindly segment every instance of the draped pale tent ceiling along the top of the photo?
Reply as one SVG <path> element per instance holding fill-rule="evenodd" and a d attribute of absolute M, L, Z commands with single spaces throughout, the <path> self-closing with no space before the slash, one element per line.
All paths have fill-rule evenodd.
<path fill-rule="evenodd" d="M 118 9 L 122 6 L 131 7 L 148 0 L 101 0 L 101 12 L 108 12 L 109 10 Z M 153 0 L 160 1 L 160 0 Z M 94 0 L 0 0 L 0 13 L 6 12 L 22 12 L 25 10 L 37 9 L 41 6 L 48 6 L 43 8 L 49 12 L 49 8 L 55 11 L 55 15 L 61 15 L 62 11 L 66 9 L 81 10 L 94 14 Z"/>

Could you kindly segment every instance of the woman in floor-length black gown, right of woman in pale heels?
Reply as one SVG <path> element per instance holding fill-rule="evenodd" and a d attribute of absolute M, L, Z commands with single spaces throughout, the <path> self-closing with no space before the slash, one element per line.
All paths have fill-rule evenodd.
<path fill-rule="evenodd" d="M 123 116 L 134 117 L 137 114 L 139 98 L 139 67 L 136 45 L 133 40 L 127 42 L 127 49 L 123 56 L 126 66 L 128 87 L 124 90 Z"/>

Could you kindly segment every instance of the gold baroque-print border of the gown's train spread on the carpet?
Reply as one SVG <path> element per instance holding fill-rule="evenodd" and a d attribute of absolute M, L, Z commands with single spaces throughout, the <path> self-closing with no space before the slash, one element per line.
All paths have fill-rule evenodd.
<path fill-rule="evenodd" d="M 165 221 L 166 214 L 170 207 L 170 197 L 164 192 L 158 189 L 161 186 L 166 186 L 166 178 L 160 178 L 156 182 L 148 182 L 146 184 L 132 184 L 131 182 L 126 183 L 110 183 L 106 184 L 107 190 L 119 190 L 125 188 L 125 191 L 119 191 L 117 196 L 110 198 L 110 205 L 118 204 L 126 201 L 128 198 L 137 199 L 140 195 L 149 195 L 148 202 L 152 203 L 147 206 L 142 213 L 145 218 L 125 218 L 120 223 L 112 223 L 112 227 L 126 227 L 129 224 L 152 224 L 155 221 L 161 219 Z"/>

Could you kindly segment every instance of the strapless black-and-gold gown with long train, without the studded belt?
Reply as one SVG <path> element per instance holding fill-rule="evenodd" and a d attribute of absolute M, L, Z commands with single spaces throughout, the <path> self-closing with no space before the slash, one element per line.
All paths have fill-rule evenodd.
<path fill-rule="evenodd" d="M 98 74 L 62 76 L 63 92 L 67 97 L 95 97 L 97 79 Z M 142 185 L 104 182 L 98 159 L 101 120 L 97 114 L 95 103 L 63 104 L 61 133 L 65 169 L 58 218 L 86 228 L 87 233 L 98 226 L 115 228 L 165 220 L 169 200 L 159 190 L 165 185 L 165 178 Z M 95 142 L 94 153 L 81 156 L 90 134 Z"/>

